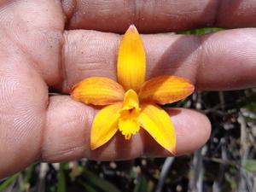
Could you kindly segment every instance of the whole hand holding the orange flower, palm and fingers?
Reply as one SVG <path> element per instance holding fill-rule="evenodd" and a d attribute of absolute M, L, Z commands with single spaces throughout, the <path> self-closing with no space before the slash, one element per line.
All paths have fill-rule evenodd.
<path fill-rule="evenodd" d="M 117 134 L 91 151 L 96 109 L 67 95 L 90 76 L 116 79 L 117 33 L 131 23 L 149 33 L 142 35 L 147 79 L 175 74 L 190 79 L 197 90 L 256 85 L 256 29 L 246 28 L 256 26 L 254 0 L 136 2 L 0 1 L 0 177 L 37 160 L 170 155 L 144 131 L 130 142 Z M 150 34 L 199 26 L 237 29 L 201 37 Z M 49 90 L 61 95 L 49 96 Z M 183 108 L 167 112 L 177 131 L 177 155 L 207 142 L 211 125 L 205 115 Z"/>

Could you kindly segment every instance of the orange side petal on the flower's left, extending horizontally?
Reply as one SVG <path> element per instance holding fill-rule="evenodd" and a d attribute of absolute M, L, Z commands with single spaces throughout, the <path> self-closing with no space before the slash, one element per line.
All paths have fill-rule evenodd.
<path fill-rule="evenodd" d="M 75 84 L 70 94 L 85 104 L 108 105 L 123 101 L 125 91 L 112 79 L 93 77 Z"/>

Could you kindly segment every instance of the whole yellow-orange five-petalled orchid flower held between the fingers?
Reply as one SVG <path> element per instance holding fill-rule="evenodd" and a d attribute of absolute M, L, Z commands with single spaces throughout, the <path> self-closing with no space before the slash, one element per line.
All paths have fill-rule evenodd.
<path fill-rule="evenodd" d="M 90 148 L 107 143 L 117 131 L 129 140 L 140 128 L 172 154 L 176 135 L 170 116 L 157 104 L 177 102 L 194 91 L 189 80 L 177 76 L 159 76 L 145 82 L 146 55 L 143 41 L 133 25 L 119 45 L 117 79 L 91 77 L 75 84 L 73 99 L 95 106 L 106 106 L 91 127 Z"/>

